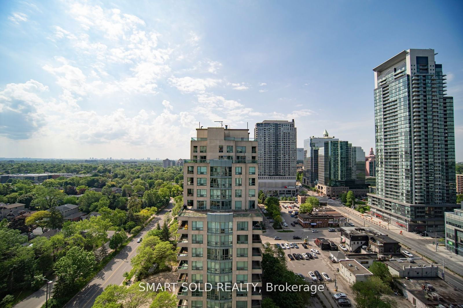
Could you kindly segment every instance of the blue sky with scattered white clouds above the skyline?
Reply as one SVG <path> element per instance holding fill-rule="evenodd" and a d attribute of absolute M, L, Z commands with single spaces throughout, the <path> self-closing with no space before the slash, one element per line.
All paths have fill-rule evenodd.
<path fill-rule="evenodd" d="M 463 160 L 463 3 L 325 2 L 3 1 L 0 157 L 185 158 L 198 122 L 291 119 L 368 153 L 372 68 L 433 48 Z"/>

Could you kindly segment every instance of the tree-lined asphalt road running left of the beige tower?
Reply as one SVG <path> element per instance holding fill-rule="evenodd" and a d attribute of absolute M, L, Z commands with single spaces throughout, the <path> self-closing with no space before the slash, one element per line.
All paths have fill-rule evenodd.
<path fill-rule="evenodd" d="M 161 225 L 164 222 L 164 215 L 169 209 L 174 207 L 173 200 L 170 199 L 170 203 L 162 211 L 151 220 L 151 222 L 139 233 L 139 235 L 131 240 L 127 246 L 125 246 L 119 254 L 117 254 L 113 260 L 109 261 L 108 264 L 100 271 L 95 277 L 77 293 L 64 307 L 65 308 L 91 308 L 95 301 L 95 298 L 103 292 L 103 290 L 109 284 L 120 285 L 124 281 L 122 276 L 124 272 L 130 272 L 132 266 L 130 264 L 131 258 L 137 253 L 137 248 L 140 243 L 137 243 L 138 237 L 144 236 L 147 231 L 156 227 L 156 223 Z"/>

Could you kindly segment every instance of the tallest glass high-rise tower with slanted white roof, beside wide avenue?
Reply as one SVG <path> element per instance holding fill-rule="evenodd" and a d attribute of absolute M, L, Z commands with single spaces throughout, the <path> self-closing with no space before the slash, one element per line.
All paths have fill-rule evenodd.
<path fill-rule="evenodd" d="M 376 193 L 371 211 L 407 231 L 444 231 L 455 204 L 453 98 L 433 49 L 375 67 Z"/>

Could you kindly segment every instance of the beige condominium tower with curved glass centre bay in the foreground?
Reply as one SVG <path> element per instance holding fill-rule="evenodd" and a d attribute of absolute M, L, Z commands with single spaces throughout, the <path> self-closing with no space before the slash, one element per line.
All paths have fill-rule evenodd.
<path fill-rule="evenodd" d="M 183 165 L 184 208 L 179 213 L 179 308 L 254 308 L 262 299 L 262 214 L 257 209 L 257 141 L 248 129 L 196 129 Z M 212 290 L 205 291 L 206 284 Z M 219 284 L 223 284 L 223 288 Z M 257 285 L 225 290 L 226 284 Z M 207 287 L 208 288 L 208 287 Z M 243 285 L 243 289 L 246 289 Z"/>

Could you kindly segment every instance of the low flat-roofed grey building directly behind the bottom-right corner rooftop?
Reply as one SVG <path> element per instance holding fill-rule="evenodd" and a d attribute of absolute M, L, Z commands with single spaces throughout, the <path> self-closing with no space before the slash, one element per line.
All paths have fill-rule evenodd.
<path fill-rule="evenodd" d="M 389 259 L 384 262 L 393 276 L 408 278 L 438 277 L 438 266 L 430 264 L 421 258 Z"/>

